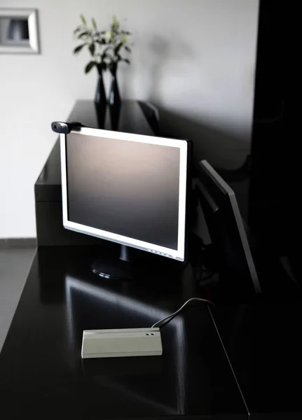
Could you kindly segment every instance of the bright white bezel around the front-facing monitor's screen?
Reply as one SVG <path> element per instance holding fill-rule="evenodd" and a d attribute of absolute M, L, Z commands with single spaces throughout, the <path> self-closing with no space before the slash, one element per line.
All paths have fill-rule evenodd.
<path fill-rule="evenodd" d="M 178 219 L 178 240 L 177 250 L 166 248 L 164 246 L 151 244 L 149 242 L 141 241 L 123 235 L 117 235 L 113 232 L 92 228 L 80 223 L 71 222 L 68 220 L 68 200 L 67 200 L 67 165 L 66 165 L 66 140 L 68 134 L 60 134 L 60 151 L 61 151 L 61 176 L 62 176 L 62 214 L 63 225 L 68 230 L 84 233 L 97 237 L 99 239 L 106 239 L 121 245 L 131 246 L 143 251 L 156 253 L 166 258 L 174 260 L 185 260 L 185 242 L 186 242 L 186 184 L 188 172 L 188 143 L 184 140 L 165 139 L 163 137 L 144 136 L 140 134 L 130 134 L 123 132 L 113 132 L 109 130 L 97 130 L 94 128 L 81 127 L 79 130 L 71 130 L 71 134 L 81 134 L 84 136 L 103 137 L 107 139 L 118 139 L 125 141 L 137 141 L 139 143 L 157 144 L 160 146 L 169 146 L 179 148 L 179 219 Z"/>

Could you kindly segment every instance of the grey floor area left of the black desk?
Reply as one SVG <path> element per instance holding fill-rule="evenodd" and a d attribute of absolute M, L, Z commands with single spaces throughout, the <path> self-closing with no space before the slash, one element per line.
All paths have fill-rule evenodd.
<path fill-rule="evenodd" d="M 35 248 L 0 249 L 0 351 L 35 252 Z"/>

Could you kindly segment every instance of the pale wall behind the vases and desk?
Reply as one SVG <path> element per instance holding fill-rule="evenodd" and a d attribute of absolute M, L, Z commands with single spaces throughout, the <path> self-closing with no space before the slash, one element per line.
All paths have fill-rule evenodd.
<path fill-rule="evenodd" d="M 133 32 L 123 97 L 151 99 L 165 132 L 197 141 L 215 165 L 249 149 L 259 0 L 0 0 L 39 10 L 41 55 L 0 55 L 0 237 L 34 237 L 34 182 L 76 99 L 94 96 L 96 73 L 74 57 L 79 14 L 100 27 L 115 13 Z M 217 154 L 217 148 L 221 153 Z"/>

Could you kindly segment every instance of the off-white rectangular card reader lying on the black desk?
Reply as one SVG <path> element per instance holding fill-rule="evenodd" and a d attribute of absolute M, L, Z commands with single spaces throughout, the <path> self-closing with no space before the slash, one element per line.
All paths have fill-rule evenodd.
<path fill-rule="evenodd" d="M 82 358 L 161 356 L 159 328 L 83 331 Z"/>

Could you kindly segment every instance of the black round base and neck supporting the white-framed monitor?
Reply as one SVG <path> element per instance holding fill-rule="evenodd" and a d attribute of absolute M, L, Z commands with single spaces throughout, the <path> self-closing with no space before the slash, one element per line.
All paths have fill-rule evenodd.
<path fill-rule="evenodd" d="M 131 261 L 132 248 L 121 245 L 120 258 L 104 257 L 92 262 L 92 272 L 105 279 L 132 280 L 134 265 Z"/>

